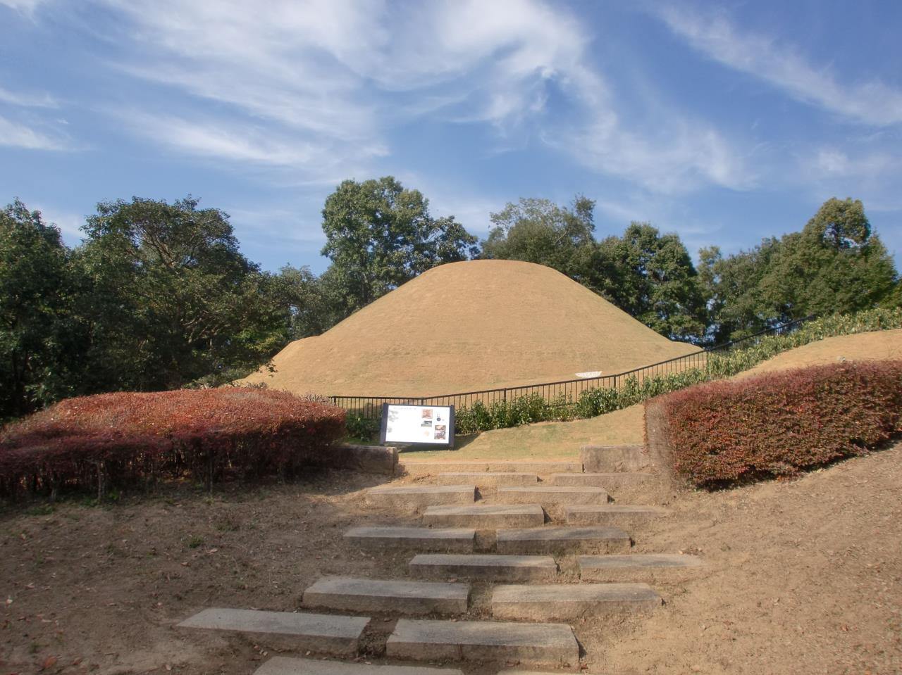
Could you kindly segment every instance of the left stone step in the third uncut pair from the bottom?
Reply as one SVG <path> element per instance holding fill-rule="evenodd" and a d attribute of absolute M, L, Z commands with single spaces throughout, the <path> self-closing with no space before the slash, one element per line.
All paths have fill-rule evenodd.
<path fill-rule="evenodd" d="M 548 581 L 557 577 L 557 563 L 550 555 L 421 553 L 408 569 L 410 576 L 421 579 Z"/>

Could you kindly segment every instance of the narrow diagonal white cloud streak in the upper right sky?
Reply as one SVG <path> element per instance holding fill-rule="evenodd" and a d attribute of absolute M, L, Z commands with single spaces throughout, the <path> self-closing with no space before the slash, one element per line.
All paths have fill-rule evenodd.
<path fill-rule="evenodd" d="M 863 123 L 902 123 L 902 91 L 878 80 L 843 85 L 828 68 L 816 68 L 796 50 L 769 37 L 739 32 L 722 15 L 689 14 L 674 5 L 662 5 L 659 15 L 696 50 L 796 100 Z"/>

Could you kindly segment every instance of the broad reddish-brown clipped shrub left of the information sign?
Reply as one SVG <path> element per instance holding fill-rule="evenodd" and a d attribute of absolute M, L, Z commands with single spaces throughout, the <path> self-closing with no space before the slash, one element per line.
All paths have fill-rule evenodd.
<path fill-rule="evenodd" d="M 345 435 L 345 411 L 281 391 L 217 388 L 69 398 L 0 433 L 0 496 L 188 477 L 293 476 Z"/>

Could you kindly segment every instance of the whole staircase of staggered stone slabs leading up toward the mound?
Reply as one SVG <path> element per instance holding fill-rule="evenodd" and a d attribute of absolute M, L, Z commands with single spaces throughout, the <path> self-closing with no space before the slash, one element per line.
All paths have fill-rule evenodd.
<path fill-rule="evenodd" d="M 630 553 L 641 527 L 667 509 L 612 504 L 609 490 L 641 488 L 654 476 L 623 448 L 611 456 L 592 462 L 602 470 L 590 472 L 574 461 L 405 462 L 408 478 L 371 488 L 364 500 L 376 515 L 407 514 L 419 523 L 344 534 L 349 547 L 371 555 L 410 552 L 402 578 L 324 577 L 304 591 L 303 611 L 205 609 L 179 627 L 255 641 L 265 635 L 274 648 L 343 658 L 361 653 L 364 633 L 374 631 L 383 645 L 375 652 L 389 661 L 579 670 L 571 623 L 647 616 L 663 602 L 654 584 L 687 579 L 704 564 L 684 554 Z M 370 634 L 368 654 L 372 642 Z M 460 673 L 277 657 L 258 675 L 379 671 Z"/>

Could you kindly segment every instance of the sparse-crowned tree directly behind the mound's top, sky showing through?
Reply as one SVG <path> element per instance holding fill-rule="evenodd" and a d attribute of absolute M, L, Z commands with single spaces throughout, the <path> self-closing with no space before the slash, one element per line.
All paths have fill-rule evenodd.
<path fill-rule="evenodd" d="M 594 250 L 594 207 L 581 195 L 570 207 L 521 197 L 491 215 L 494 227 L 483 242 L 483 258 L 536 262 L 585 282 Z"/>

